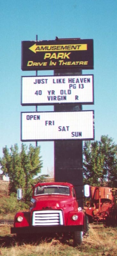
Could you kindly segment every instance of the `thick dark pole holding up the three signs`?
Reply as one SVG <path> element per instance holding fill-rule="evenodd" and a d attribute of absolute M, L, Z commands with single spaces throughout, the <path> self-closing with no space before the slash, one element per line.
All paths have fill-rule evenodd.
<path fill-rule="evenodd" d="M 82 70 L 54 70 L 54 75 L 82 75 Z M 81 111 L 81 104 L 56 104 L 54 111 Z M 70 182 L 74 185 L 78 205 L 83 207 L 83 153 L 82 140 L 54 141 L 55 181 Z"/>

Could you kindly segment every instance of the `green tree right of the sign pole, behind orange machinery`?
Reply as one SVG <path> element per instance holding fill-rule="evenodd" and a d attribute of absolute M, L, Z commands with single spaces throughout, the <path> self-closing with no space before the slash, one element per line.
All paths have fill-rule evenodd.
<path fill-rule="evenodd" d="M 84 143 L 84 183 L 117 187 L 117 145 L 108 135 Z"/>

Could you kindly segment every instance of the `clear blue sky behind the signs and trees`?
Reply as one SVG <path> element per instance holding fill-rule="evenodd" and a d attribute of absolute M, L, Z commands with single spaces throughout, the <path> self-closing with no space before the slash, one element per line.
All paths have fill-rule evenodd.
<path fill-rule="evenodd" d="M 21 70 L 21 41 L 81 38 L 94 40 L 94 105 L 83 110 L 95 111 L 95 140 L 108 135 L 117 143 L 117 1 L 115 0 L 1 0 L 0 1 L 0 157 L 3 147 L 20 141 L 20 112 L 35 111 L 21 106 L 21 76 L 35 71 Z M 53 71 L 38 71 L 38 76 Z M 38 106 L 38 111 L 53 111 L 53 106 Z M 29 146 L 31 142 L 25 144 Z M 32 142 L 35 146 L 35 142 Z M 39 141 L 43 168 L 54 169 L 54 142 Z"/>

